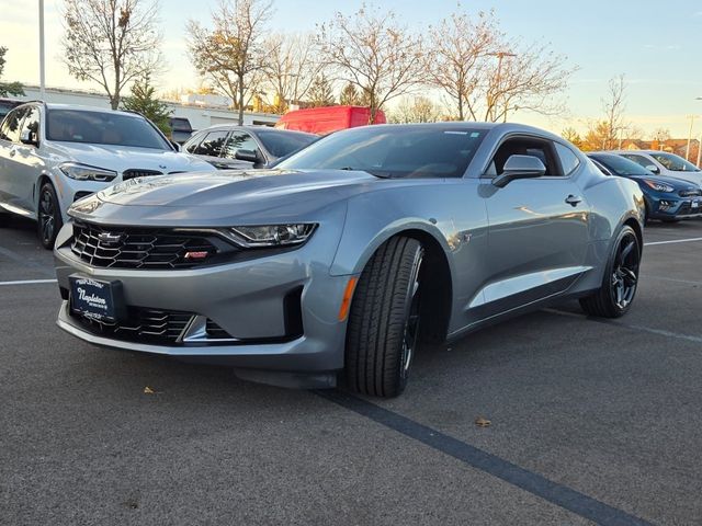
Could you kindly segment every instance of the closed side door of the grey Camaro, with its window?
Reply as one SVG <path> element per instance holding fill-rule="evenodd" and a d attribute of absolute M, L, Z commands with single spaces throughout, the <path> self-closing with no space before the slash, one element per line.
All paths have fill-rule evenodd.
<path fill-rule="evenodd" d="M 537 157 L 546 173 L 491 184 L 512 155 Z M 578 186 L 585 169 L 569 147 L 542 137 L 509 136 L 484 174 L 488 268 L 478 304 L 495 316 L 567 289 L 582 273 L 589 243 L 589 206 Z"/>

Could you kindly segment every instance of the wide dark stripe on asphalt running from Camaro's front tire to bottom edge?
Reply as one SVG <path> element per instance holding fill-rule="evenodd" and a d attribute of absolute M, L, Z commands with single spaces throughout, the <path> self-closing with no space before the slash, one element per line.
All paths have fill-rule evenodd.
<path fill-rule="evenodd" d="M 559 484 L 539 473 L 521 468 L 491 453 L 484 451 L 440 431 L 428 427 L 394 411 L 381 408 L 361 398 L 338 390 L 317 390 L 321 398 L 365 416 L 403 435 L 421 442 L 445 455 L 461 460 L 480 471 L 497 477 L 533 495 L 561 506 L 588 521 L 604 526 L 650 525 L 642 518 L 604 504 L 567 485 Z"/>

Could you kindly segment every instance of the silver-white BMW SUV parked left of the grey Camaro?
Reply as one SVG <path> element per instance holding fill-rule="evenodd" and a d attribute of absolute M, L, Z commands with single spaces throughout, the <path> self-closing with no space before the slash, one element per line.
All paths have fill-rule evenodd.
<path fill-rule="evenodd" d="M 134 178 L 196 170 L 213 168 L 178 153 L 134 113 L 32 102 L 0 125 L 0 211 L 36 219 L 47 249 L 76 199 Z"/>

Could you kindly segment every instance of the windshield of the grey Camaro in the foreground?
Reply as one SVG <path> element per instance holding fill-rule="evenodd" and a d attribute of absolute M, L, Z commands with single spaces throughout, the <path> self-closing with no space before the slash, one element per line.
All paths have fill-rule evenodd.
<path fill-rule="evenodd" d="M 378 178 L 461 178 L 487 130 L 362 126 L 329 135 L 276 168 L 363 170 Z"/>

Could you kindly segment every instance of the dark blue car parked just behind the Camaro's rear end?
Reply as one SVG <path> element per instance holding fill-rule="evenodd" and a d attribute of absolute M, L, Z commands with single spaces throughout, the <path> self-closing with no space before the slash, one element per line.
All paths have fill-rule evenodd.
<path fill-rule="evenodd" d="M 702 216 L 702 188 L 689 181 L 661 178 L 641 164 L 614 153 L 588 153 L 607 175 L 619 175 L 638 183 L 646 203 L 646 219 L 673 222 Z"/>

